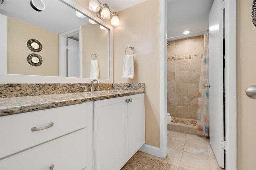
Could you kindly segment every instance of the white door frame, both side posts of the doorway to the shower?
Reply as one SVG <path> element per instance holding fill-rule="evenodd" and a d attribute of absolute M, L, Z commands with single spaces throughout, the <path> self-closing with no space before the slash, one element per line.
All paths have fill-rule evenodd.
<path fill-rule="evenodd" d="M 160 157 L 167 155 L 166 1 L 160 0 Z M 236 169 L 236 0 L 225 0 L 226 170 Z"/>

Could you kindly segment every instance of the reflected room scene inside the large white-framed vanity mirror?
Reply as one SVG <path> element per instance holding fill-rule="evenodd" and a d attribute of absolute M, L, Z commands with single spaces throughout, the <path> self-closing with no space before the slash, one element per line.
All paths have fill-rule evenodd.
<path fill-rule="evenodd" d="M 30 0 L 0 4 L 0 15 L 8 20 L 8 74 L 90 78 L 95 53 L 98 78 L 109 79 L 109 29 L 60 0 L 42 1 L 45 9 L 40 12 Z"/>

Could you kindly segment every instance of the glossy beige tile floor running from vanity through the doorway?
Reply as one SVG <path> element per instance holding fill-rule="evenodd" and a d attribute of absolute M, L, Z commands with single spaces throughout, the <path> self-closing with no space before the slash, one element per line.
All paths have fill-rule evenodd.
<path fill-rule="evenodd" d="M 121 170 L 124 170 L 134 160 L 136 154 Z M 150 154 L 146 155 L 163 160 Z M 168 131 L 168 156 L 163 161 L 186 170 L 222 170 L 214 156 L 209 139 L 174 131 Z"/>

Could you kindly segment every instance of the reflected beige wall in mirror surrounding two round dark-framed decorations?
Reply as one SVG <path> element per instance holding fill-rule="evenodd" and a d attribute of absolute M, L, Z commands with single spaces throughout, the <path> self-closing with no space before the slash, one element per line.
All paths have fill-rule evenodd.
<path fill-rule="evenodd" d="M 40 41 L 42 57 L 40 66 L 28 63 L 29 54 L 35 53 L 27 47 L 29 39 Z M 59 76 L 59 35 L 29 23 L 8 17 L 8 74 Z"/>

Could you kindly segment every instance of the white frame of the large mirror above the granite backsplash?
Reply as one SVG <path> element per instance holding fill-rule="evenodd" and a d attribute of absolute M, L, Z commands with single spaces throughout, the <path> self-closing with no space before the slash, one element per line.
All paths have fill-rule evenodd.
<path fill-rule="evenodd" d="M 82 6 L 78 5 L 73 0 L 60 0 L 66 5 L 70 6 L 74 10 L 85 14 L 88 18 L 93 19 L 101 25 L 104 25 L 109 29 L 109 79 L 99 78 L 101 83 L 113 83 L 113 27 L 108 23 L 104 22 Z M 7 18 L 1 18 L 0 21 L 6 20 Z M 0 24 L 2 25 L 2 24 Z M 57 77 L 57 76 L 36 76 L 36 75 L 22 75 L 22 74 L 7 74 L 7 30 L 0 27 L 0 83 L 91 83 L 93 78 L 76 78 L 76 77 Z M 3 31 L 2 31 L 3 30 Z M 5 33 L 6 31 L 6 33 Z M 5 35 L 6 34 L 6 35 Z M 6 45 L 4 45 L 6 44 Z M 6 56 L 6 57 L 2 57 Z"/>

